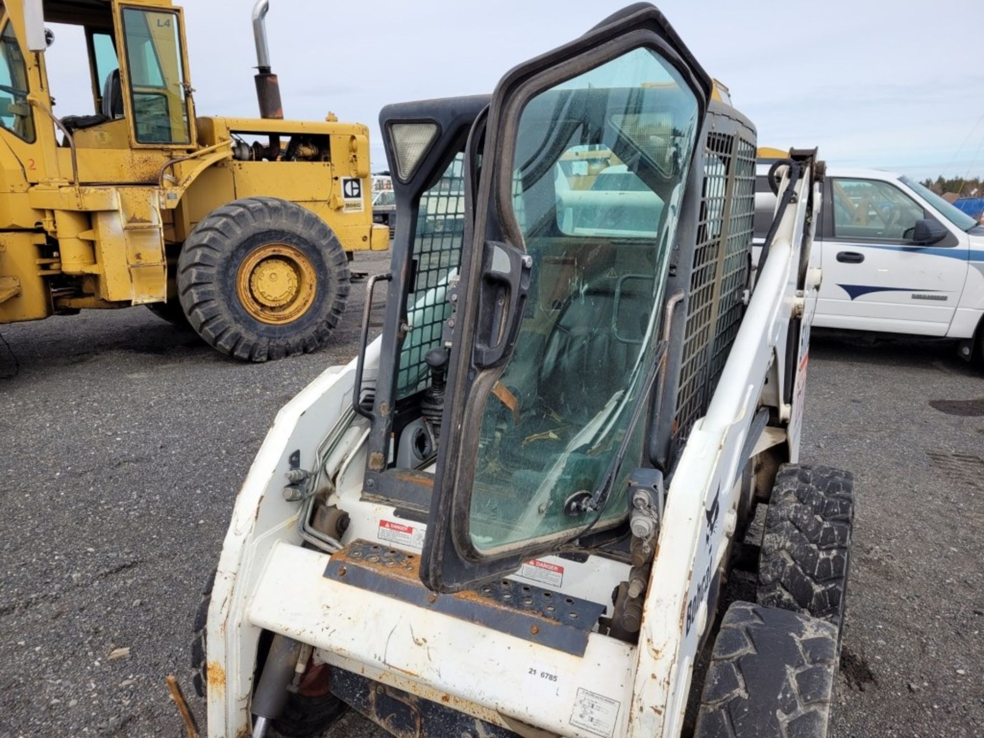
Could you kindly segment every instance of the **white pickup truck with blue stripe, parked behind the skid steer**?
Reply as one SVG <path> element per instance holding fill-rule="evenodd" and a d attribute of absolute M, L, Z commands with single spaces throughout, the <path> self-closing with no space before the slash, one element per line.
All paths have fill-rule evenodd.
<path fill-rule="evenodd" d="M 771 223 L 773 159 L 756 172 L 753 263 Z M 814 326 L 958 338 L 984 363 L 984 227 L 912 179 L 828 167 L 817 240 L 824 280 Z"/>

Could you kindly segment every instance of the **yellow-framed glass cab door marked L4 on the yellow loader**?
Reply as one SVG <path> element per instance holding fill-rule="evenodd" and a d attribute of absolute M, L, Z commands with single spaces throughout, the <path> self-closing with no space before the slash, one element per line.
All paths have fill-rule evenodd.
<path fill-rule="evenodd" d="M 122 14 L 138 143 L 190 143 L 178 15 L 136 8 Z"/>

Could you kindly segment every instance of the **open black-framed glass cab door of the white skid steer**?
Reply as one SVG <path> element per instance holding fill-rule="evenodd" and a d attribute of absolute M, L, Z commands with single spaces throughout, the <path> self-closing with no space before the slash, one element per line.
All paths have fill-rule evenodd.
<path fill-rule="evenodd" d="M 453 591 L 629 514 L 709 79 L 633 6 L 499 84 L 448 323 L 421 578 Z"/>

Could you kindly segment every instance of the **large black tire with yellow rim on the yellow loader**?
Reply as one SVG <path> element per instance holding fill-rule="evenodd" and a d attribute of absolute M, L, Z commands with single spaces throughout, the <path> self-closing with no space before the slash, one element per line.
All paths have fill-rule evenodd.
<path fill-rule="evenodd" d="M 314 351 L 348 299 L 345 252 L 325 222 L 275 198 L 218 208 L 189 234 L 178 294 L 196 332 L 222 353 L 266 361 Z"/>

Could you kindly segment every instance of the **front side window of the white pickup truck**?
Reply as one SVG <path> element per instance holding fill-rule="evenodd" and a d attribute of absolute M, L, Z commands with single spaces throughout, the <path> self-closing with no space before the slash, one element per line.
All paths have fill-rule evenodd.
<path fill-rule="evenodd" d="M 914 200 L 888 182 L 838 177 L 833 191 L 833 235 L 902 241 L 926 216 Z"/>

